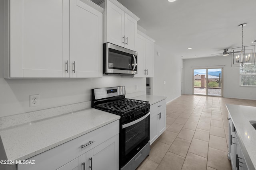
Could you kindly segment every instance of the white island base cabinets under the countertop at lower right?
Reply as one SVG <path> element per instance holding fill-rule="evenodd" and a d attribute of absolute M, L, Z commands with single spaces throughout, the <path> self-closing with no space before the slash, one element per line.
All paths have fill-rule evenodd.
<path fill-rule="evenodd" d="M 228 115 L 230 117 L 230 114 Z M 239 141 L 236 135 L 236 128 L 233 121 L 229 120 L 229 158 L 232 166 L 232 170 L 248 170 L 246 161 L 244 159 L 243 151 L 240 147 Z"/>

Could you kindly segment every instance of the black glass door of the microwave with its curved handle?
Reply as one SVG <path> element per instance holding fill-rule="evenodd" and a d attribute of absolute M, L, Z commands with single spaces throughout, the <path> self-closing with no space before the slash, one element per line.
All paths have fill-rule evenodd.
<path fill-rule="evenodd" d="M 119 70 L 132 70 L 134 59 L 131 54 L 109 49 L 108 52 L 108 68 Z"/>

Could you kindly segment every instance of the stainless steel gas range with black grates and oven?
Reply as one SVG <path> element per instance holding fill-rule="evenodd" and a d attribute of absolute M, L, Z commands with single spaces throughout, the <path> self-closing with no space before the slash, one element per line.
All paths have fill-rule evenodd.
<path fill-rule="evenodd" d="M 125 94 L 124 86 L 92 89 L 91 107 L 121 116 L 119 168 L 135 170 L 150 151 L 150 104 Z"/>

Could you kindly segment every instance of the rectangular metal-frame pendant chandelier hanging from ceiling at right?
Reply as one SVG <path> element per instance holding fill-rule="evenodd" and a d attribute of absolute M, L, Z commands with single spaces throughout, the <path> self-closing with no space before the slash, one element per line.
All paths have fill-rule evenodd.
<path fill-rule="evenodd" d="M 244 26 L 246 23 L 238 25 L 242 27 L 242 47 L 231 49 L 232 67 L 244 66 L 244 64 L 255 64 L 255 45 L 244 46 Z"/>

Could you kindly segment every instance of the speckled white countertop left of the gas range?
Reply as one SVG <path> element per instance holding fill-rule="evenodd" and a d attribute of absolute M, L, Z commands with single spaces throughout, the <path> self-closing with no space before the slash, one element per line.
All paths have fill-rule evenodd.
<path fill-rule="evenodd" d="M 118 119 L 119 115 L 88 108 L 2 129 L 0 137 L 7 160 L 26 160 Z"/>

